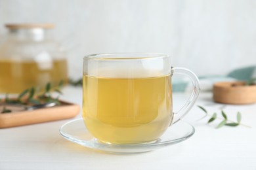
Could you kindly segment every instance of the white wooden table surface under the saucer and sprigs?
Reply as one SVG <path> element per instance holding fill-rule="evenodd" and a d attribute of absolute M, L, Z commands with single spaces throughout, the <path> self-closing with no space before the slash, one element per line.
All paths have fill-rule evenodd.
<path fill-rule="evenodd" d="M 174 93 L 175 109 L 187 94 Z M 82 103 L 81 88 L 67 87 L 62 99 Z M 211 93 L 201 93 L 196 105 L 218 112 Z M 228 118 L 251 128 L 207 124 L 202 110 L 194 107 L 184 118 L 196 133 L 182 143 L 143 154 L 116 155 L 95 152 L 60 136 L 59 128 L 68 120 L 0 129 L 0 169 L 256 169 L 256 104 L 226 105 Z M 81 112 L 77 118 L 81 117 Z"/>

